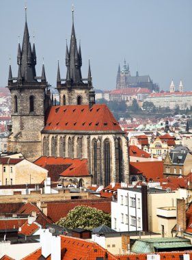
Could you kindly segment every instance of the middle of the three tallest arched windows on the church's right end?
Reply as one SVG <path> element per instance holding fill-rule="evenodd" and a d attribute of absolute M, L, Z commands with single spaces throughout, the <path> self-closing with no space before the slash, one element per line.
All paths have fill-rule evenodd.
<path fill-rule="evenodd" d="M 108 186 L 111 181 L 111 151 L 109 139 L 104 141 L 104 172 L 105 186 Z"/>

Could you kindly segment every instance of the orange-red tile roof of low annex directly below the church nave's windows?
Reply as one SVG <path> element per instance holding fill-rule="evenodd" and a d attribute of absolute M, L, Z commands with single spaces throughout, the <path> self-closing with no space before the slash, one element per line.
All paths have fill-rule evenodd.
<path fill-rule="evenodd" d="M 49 168 L 51 169 L 50 166 L 55 166 L 54 169 L 51 169 L 51 176 L 53 179 L 57 178 L 58 175 L 65 177 L 90 176 L 87 168 L 87 159 L 42 156 L 34 161 L 34 164 L 46 168 L 47 170 L 49 170 Z M 64 166 L 64 168 L 61 168 L 61 166 Z M 54 170 L 55 172 L 53 172 Z M 61 170 L 61 172 L 59 172 L 59 170 Z M 51 176 L 49 175 L 49 177 Z"/>

